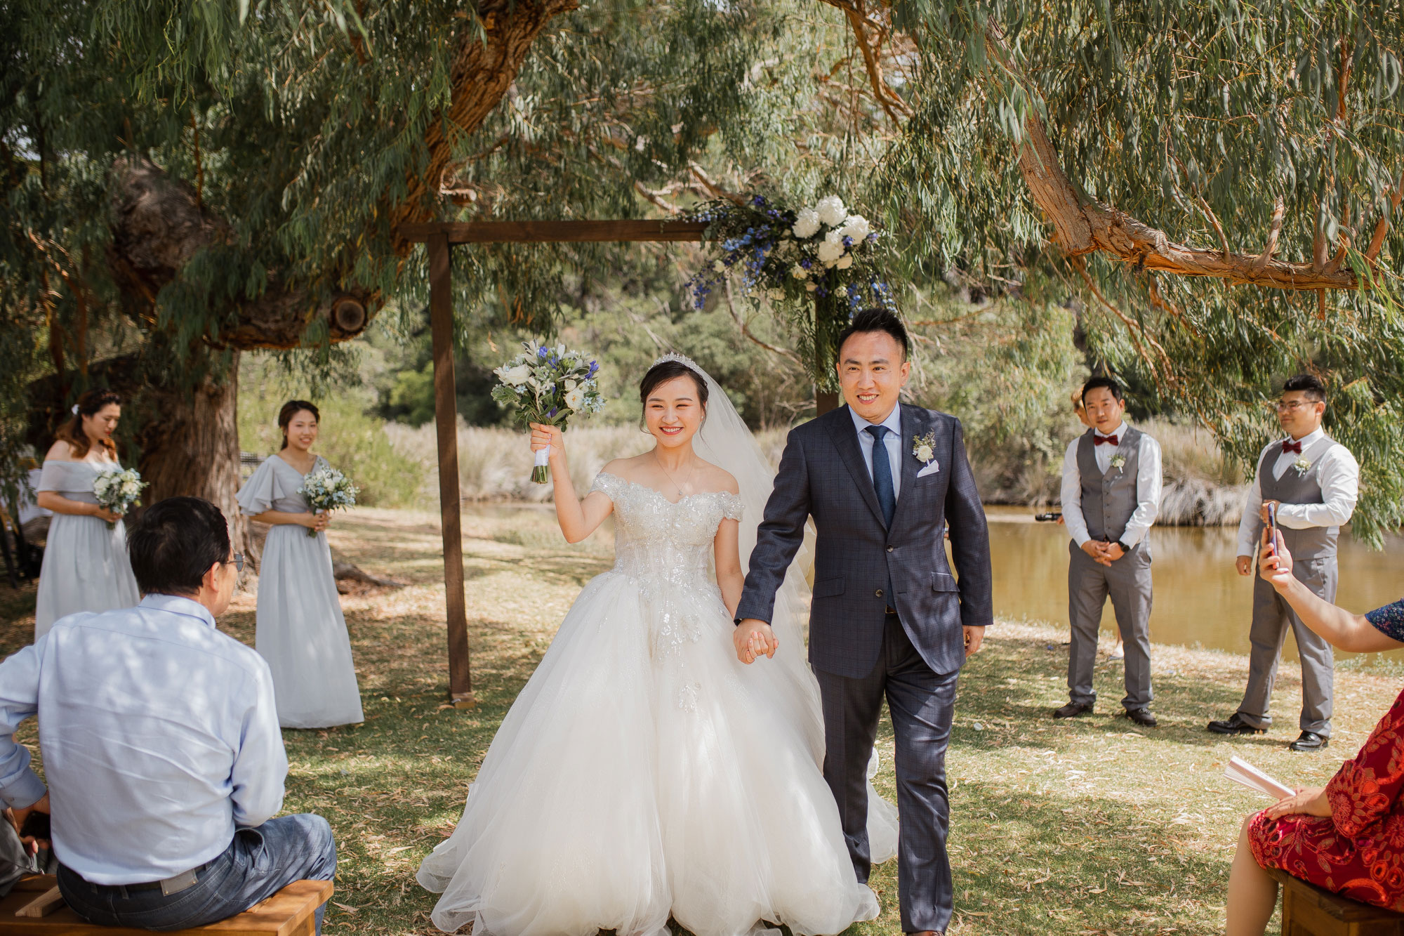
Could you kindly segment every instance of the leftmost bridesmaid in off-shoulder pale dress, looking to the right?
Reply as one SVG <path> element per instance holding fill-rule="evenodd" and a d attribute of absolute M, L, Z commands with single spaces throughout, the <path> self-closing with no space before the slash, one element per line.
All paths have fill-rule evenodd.
<path fill-rule="evenodd" d="M 38 505 L 52 510 L 53 520 L 39 569 L 35 641 L 67 614 L 132 607 L 142 600 L 126 561 L 122 517 L 100 507 L 93 495 L 93 482 L 101 472 L 121 468 L 112 441 L 121 417 L 121 396 L 105 389 L 87 391 L 44 457 Z"/>

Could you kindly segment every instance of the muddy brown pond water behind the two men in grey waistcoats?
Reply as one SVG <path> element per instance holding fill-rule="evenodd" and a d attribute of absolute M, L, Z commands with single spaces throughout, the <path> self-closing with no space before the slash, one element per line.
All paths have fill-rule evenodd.
<path fill-rule="evenodd" d="M 1033 523 L 1033 510 L 1025 507 L 987 507 L 987 514 L 995 614 L 1067 627 L 1067 530 Z M 1151 641 L 1247 654 L 1252 582 L 1234 571 L 1237 527 L 1155 527 L 1150 535 Z M 1342 607 L 1369 611 L 1404 596 L 1404 538 L 1390 537 L 1376 552 L 1342 534 L 1339 564 Z M 1108 602 L 1102 630 L 1111 634 L 1115 627 Z M 1290 638 L 1283 654 L 1296 659 Z"/>

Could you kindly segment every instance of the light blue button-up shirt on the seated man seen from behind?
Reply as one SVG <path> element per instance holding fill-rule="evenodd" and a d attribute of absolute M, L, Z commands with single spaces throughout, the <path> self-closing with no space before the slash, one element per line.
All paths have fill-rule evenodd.
<path fill-rule="evenodd" d="M 13 738 L 35 714 L 53 852 L 94 884 L 180 874 L 282 808 L 268 663 L 190 599 L 70 614 L 0 662 L 0 800 L 11 807 L 45 793 Z"/>

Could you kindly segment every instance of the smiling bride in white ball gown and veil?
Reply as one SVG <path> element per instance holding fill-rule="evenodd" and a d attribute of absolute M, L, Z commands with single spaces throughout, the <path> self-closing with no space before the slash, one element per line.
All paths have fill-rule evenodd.
<path fill-rule="evenodd" d="M 838 933 L 878 915 L 821 774 L 803 579 L 776 600 L 779 651 L 731 644 L 772 472 L 722 388 L 668 354 L 639 392 L 653 450 L 605 465 L 583 500 L 562 433 L 556 516 L 578 542 L 615 514 L 615 568 L 576 599 L 503 720 L 453 835 L 420 866 L 434 923 L 476 936 L 698 936 L 788 925 Z M 715 568 L 713 583 L 709 565 Z M 875 860 L 896 815 L 869 810 Z"/>

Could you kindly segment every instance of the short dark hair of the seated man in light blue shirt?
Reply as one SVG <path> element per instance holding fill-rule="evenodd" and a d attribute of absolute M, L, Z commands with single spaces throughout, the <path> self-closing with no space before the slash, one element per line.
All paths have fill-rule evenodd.
<path fill-rule="evenodd" d="M 204 498 L 167 498 L 132 526 L 126 554 L 142 594 L 194 594 L 209 566 L 229 561 L 229 523 Z"/>

